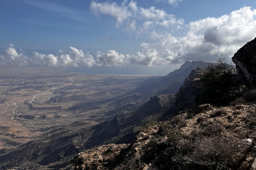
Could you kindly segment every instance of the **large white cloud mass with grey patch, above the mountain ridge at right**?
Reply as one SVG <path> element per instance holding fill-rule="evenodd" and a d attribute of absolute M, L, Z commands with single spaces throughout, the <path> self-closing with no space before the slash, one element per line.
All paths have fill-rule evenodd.
<path fill-rule="evenodd" d="M 158 13 L 157 16 L 145 16 L 158 19 L 163 15 Z M 153 23 L 145 22 L 144 27 L 151 24 Z M 154 64 L 178 64 L 185 60 L 215 61 L 221 54 L 230 59 L 240 47 L 256 37 L 256 10 L 244 7 L 219 18 L 208 17 L 191 22 L 188 28 L 184 37 L 153 31 L 151 38 L 156 42 L 141 43 L 143 50 L 137 52 L 136 55 L 123 55 L 113 50 L 107 54 L 99 52 L 98 62 L 108 63 L 107 65 L 152 66 Z M 107 61 L 110 58 L 111 62 Z"/>

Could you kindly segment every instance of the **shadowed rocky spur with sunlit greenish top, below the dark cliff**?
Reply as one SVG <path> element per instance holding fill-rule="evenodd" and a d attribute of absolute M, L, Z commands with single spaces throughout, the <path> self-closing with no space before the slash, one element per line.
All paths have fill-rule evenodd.
<path fill-rule="evenodd" d="M 97 145 L 131 142 L 138 129 L 135 127 L 145 125 L 151 121 L 166 118 L 168 110 L 173 107 L 175 96 L 157 95 L 150 98 L 138 110 L 133 112 L 123 112 L 114 118 L 97 125 L 92 130 L 92 135 L 85 144 L 85 148 L 92 148 Z"/>

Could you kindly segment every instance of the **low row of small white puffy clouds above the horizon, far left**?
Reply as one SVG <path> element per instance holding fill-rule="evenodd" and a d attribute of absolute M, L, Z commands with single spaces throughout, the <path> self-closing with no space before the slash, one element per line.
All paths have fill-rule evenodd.
<path fill-rule="evenodd" d="M 85 65 L 91 67 L 95 64 L 94 57 L 89 53 L 84 53 L 81 49 L 70 46 L 70 51 L 64 53 L 59 50 L 60 54 L 42 54 L 37 51 L 32 52 L 31 56 L 24 53 L 18 53 L 12 44 L 11 47 L 1 51 L 0 65 L 3 66 L 73 66 Z"/>

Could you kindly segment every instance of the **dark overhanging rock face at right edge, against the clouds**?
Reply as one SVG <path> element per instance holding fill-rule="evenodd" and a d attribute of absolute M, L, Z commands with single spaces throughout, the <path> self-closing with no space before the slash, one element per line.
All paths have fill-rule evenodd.
<path fill-rule="evenodd" d="M 232 57 L 248 88 L 256 87 L 256 38 L 247 42 Z"/>

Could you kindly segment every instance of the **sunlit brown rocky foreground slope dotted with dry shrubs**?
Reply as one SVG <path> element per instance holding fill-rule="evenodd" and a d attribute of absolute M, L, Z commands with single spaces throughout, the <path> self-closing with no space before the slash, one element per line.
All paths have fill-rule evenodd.
<path fill-rule="evenodd" d="M 211 107 L 193 118 L 185 111 L 140 132 L 130 144 L 78 153 L 62 170 L 253 170 L 256 133 L 248 124 L 255 109 L 255 104 Z"/>

